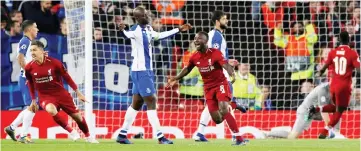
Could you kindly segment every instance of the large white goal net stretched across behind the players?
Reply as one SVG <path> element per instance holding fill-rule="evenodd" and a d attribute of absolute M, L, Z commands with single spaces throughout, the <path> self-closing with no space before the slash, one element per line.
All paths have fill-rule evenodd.
<path fill-rule="evenodd" d="M 71 61 L 82 72 L 84 18 L 76 10 L 78 2 L 67 6 L 68 47 Z M 135 20 L 132 9 L 144 6 L 152 17 L 151 26 L 161 32 L 190 23 L 194 28 L 175 37 L 154 41 L 153 67 L 157 89 L 157 109 L 162 130 L 171 138 L 192 138 L 204 108 L 202 81 L 197 71 L 173 88 L 165 88 L 168 76 L 184 67 L 194 51 L 196 32 L 214 28 L 212 12 L 222 10 L 229 19 L 224 32 L 230 59 L 238 81 L 233 85 L 235 100 L 249 108 L 246 114 L 235 112 L 241 133 L 249 138 L 265 138 L 272 129 L 289 131 L 296 119 L 296 109 L 305 96 L 327 75 L 314 73 L 325 61 L 330 49 L 338 45 L 338 34 L 348 31 L 351 46 L 360 53 L 360 1 L 276 2 L 276 1 L 93 1 L 93 113 L 94 132 L 100 138 L 115 138 L 131 104 L 131 46 L 117 25 L 128 30 Z M 340 133 L 347 138 L 360 137 L 359 75 L 354 78 L 350 110 L 344 113 Z M 83 80 L 78 84 L 83 85 Z M 138 113 L 129 135 L 143 133 L 153 138 L 146 116 L 146 106 Z M 325 126 L 315 120 L 301 138 L 316 138 Z M 227 126 L 214 122 L 206 129 L 209 138 L 230 138 Z"/>

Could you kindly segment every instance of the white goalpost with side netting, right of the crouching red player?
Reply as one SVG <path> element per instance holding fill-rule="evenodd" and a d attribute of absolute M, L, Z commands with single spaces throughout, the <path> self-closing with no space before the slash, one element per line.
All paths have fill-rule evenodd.
<path fill-rule="evenodd" d="M 78 108 L 84 110 L 89 130 L 93 132 L 95 117 L 93 115 L 92 1 L 65 0 L 64 7 L 68 29 L 66 56 L 69 58 L 67 59 L 68 70 L 73 70 L 69 73 L 89 103 L 81 103 L 74 92 L 72 96 Z M 91 133 L 91 135 L 95 134 Z"/>

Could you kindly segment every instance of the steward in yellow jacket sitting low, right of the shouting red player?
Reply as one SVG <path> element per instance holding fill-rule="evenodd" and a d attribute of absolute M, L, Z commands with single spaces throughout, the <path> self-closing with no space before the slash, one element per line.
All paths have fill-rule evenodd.
<path fill-rule="evenodd" d="M 249 110 L 262 110 L 262 93 L 258 88 L 257 78 L 250 73 L 250 65 L 244 59 L 238 65 L 238 71 L 233 83 L 233 96 Z"/>

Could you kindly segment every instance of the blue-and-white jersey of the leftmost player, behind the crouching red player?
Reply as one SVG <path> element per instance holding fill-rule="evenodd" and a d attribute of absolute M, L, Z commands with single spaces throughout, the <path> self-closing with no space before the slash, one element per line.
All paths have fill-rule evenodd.
<path fill-rule="evenodd" d="M 27 64 L 33 60 L 33 57 L 31 56 L 31 53 L 30 53 L 30 43 L 31 43 L 31 40 L 24 35 L 23 38 L 20 39 L 19 45 L 18 45 L 18 51 L 17 51 L 18 55 L 20 53 L 22 53 L 25 56 L 25 64 Z M 21 71 L 24 71 L 24 69 L 21 69 Z M 22 73 L 21 76 L 25 77 L 24 72 Z"/>

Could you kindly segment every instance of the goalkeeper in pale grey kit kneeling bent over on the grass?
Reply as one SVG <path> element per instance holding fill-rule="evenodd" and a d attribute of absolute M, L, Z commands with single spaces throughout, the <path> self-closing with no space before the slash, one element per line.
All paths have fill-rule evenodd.
<path fill-rule="evenodd" d="M 292 127 L 291 132 L 287 130 L 271 130 L 267 134 L 267 137 L 297 139 L 304 130 L 307 130 L 310 127 L 312 120 L 323 119 L 325 123 L 328 123 L 328 113 L 321 113 L 321 115 L 314 114 L 312 120 L 308 119 L 308 109 L 311 106 L 324 106 L 328 104 L 332 104 L 330 97 L 330 86 L 329 83 L 322 83 L 313 89 L 306 96 L 302 104 L 297 108 L 296 121 Z M 339 129 L 340 122 L 336 126 Z"/>

